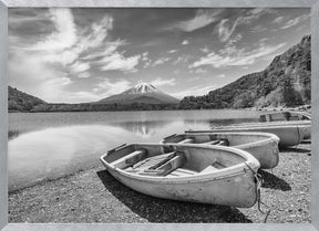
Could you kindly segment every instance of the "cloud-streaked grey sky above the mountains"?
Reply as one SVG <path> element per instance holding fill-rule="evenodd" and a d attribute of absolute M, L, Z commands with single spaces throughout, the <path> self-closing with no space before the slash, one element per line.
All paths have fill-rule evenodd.
<path fill-rule="evenodd" d="M 205 95 L 310 34 L 310 9 L 9 9 L 9 85 L 85 103 L 140 82 Z"/>

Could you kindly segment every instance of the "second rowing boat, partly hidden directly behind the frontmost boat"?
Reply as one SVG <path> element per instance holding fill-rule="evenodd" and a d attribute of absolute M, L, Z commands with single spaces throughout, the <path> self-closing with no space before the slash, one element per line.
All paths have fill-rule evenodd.
<path fill-rule="evenodd" d="M 264 169 L 274 168 L 279 161 L 279 138 L 269 133 L 185 133 L 168 136 L 162 143 L 236 147 L 251 154 Z"/>

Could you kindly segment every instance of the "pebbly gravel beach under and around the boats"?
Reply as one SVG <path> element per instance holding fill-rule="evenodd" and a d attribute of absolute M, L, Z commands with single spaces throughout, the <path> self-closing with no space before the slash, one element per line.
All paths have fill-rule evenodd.
<path fill-rule="evenodd" d="M 279 165 L 264 177 L 261 209 L 268 223 L 310 222 L 311 144 L 280 150 Z M 196 223 L 264 222 L 249 209 L 158 199 L 133 191 L 103 167 L 9 192 L 9 222 Z"/>

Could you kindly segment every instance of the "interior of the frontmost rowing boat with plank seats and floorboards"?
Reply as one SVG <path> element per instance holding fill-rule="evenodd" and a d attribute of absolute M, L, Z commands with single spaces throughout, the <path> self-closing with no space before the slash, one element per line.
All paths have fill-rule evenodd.
<path fill-rule="evenodd" d="M 216 172 L 246 161 L 229 150 L 172 145 L 130 145 L 113 150 L 104 160 L 113 168 L 154 177 L 189 177 Z"/>

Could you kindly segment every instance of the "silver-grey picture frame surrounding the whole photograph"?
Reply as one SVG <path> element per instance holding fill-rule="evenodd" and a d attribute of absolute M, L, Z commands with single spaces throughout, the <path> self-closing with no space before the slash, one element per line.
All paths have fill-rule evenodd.
<path fill-rule="evenodd" d="M 8 9 L 9 8 L 311 8 L 311 223 L 8 223 Z M 287 230 L 319 231 L 319 1 L 318 0 L 0 0 L 0 230 Z"/>

